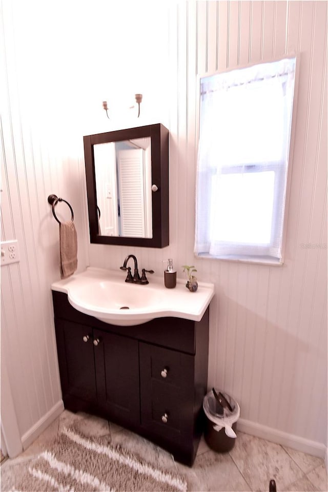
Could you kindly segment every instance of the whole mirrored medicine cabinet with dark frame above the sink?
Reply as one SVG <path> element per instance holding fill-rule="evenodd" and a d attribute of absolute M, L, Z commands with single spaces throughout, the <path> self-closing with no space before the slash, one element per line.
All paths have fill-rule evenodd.
<path fill-rule="evenodd" d="M 169 132 L 161 124 L 84 136 L 92 243 L 169 244 Z"/>

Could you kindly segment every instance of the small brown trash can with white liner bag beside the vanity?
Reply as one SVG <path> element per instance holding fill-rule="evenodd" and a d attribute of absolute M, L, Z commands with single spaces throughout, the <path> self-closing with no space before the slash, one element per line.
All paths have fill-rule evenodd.
<path fill-rule="evenodd" d="M 238 403 L 219 389 L 212 390 L 203 399 L 206 415 L 204 438 L 218 453 L 227 453 L 236 442 L 236 423 L 240 415 Z"/>

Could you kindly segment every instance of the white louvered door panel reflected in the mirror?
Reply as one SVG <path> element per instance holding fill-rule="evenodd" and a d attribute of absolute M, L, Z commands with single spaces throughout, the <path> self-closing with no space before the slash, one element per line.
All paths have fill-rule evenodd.
<path fill-rule="evenodd" d="M 145 237 L 144 151 L 120 150 L 118 186 L 121 235 Z"/>

